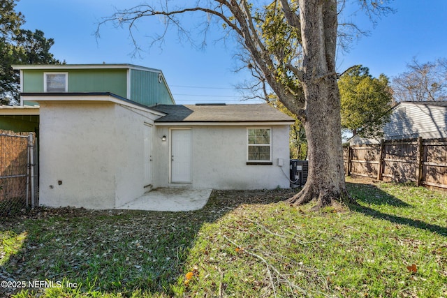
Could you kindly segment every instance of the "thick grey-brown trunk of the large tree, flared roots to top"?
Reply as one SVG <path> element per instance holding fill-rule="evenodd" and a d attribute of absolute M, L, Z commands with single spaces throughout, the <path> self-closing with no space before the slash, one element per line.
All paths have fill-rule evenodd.
<path fill-rule="evenodd" d="M 316 208 L 354 202 L 344 182 L 340 97 L 335 73 L 337 0 L 300 0 L 304 51 L 305 130 L 309 176 L 293 204 L 317 200 Z"/>

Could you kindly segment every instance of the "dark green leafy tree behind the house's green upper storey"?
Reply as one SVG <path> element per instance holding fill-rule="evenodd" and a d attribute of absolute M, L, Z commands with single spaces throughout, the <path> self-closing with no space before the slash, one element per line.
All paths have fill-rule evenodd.
<path fill-rule="evenodd" d="M 22 29 L 24 15 L 16 13 L 16 0 L 0 1 L 0 104 L 18 103 L 20 75 L 13 64 L 59 64 L 50 53 L 54 45 L 43 31 Z"/>

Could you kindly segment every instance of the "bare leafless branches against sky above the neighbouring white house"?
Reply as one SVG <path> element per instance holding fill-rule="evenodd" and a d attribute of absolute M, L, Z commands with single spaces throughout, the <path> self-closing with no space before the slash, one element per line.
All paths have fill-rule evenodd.
<path fill-rule="evenodd" d="M 447 100 L 447 60 L 420 64 L 413 59 L 407 70 L 393 79 L 396 101 Z"/>

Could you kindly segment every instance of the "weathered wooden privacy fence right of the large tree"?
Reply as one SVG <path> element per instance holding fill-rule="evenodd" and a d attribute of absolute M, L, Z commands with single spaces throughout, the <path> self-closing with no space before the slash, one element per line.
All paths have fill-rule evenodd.
<path fill-rule="evenodd" d="M 447 188 L 447 139 L 385 140 L 343 149 L 346 175 Z"/>

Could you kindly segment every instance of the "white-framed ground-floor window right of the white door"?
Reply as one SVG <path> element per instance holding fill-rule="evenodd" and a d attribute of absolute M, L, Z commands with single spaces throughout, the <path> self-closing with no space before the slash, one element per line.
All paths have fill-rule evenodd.
<path fill-rule="evenodd" d="M 270 163 L 272 161 L 272 129 L 248 128 L 248 162 Z"/>

